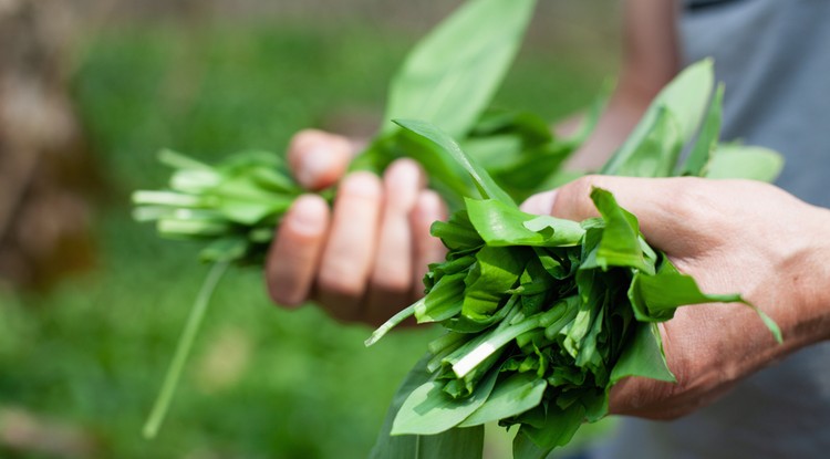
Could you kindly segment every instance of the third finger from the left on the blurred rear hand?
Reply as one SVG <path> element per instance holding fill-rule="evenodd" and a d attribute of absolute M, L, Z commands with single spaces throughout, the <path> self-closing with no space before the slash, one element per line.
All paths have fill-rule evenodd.
<path fill-rule="evenodd" d="M 371 323 L 382 323 L 409 300 L 414 252 L 409 212 L 425 184 L 421 166 L 412 159 L 394 161 L 384 174 L 383 217 L 365 311 Z"/>

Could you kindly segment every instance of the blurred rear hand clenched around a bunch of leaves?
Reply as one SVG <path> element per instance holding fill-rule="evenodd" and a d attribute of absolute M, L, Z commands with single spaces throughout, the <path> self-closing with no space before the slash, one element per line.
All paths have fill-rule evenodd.
<path fill-rule="evenodd" d="M 380 324 L 423 295 L 427 264 L 444 257 L 429 227 L 446 210 L 411 159 L 394 161 L 382 179 L 366 171 L 343 177 L 356 150 L 320 131 L 293 137 L 289 164 L 303 187 L 342 180 L 333 211 L 318 195 L 297 199 L 280 222 L 266 277 L 281 305 L 314 300 L 339 320 Z"/>

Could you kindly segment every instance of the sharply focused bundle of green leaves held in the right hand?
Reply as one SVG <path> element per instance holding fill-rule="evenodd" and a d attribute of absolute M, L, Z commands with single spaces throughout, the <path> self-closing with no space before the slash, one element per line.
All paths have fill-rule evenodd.
<path fill-rule="evenodd" d="M 722 90 L 708 102 L 712 86 L 710 62 L 684 71 L 604 171 L 774 178 L 776 154 L 718 148 Z M 434 223 L 448 253 L 429 267 L 425 298 L 366 342 L 412 315 L 447 330 L 398 390 L 374 457 L 423 457 L 413 451 L 426 448 L 436 457 L 477 458 L 488 421 L 519 426 L 516 458 L 547 457 L 582 423 L 608 414 L 609 392 L 621 378 L 675 380 L 656 324 L 677 307 L 724 302 L 755 309 L 739 294 L 702 292 L 649 246 L 636 217 L 609 191 L 591 192 L 599 218 L 529 215 L 448 135 L 423 122 L 398 123 L 463 165 L 478 196 Z M 684 146 L 691 154 L 677 165 Z M 775 322 L 755 310 L 780 342 Z"/>

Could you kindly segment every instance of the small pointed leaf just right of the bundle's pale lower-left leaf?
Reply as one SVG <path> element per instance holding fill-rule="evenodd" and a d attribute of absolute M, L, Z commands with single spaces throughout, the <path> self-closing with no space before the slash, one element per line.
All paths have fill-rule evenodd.
<path fill-rule="evenodd" d="M 547 387 L 548 383 L 536 374 L 517 373 L 496 385 L 487 401 L 459 424 L 459 427 L 478 426 L 520 415 L 541 403 Z"/>

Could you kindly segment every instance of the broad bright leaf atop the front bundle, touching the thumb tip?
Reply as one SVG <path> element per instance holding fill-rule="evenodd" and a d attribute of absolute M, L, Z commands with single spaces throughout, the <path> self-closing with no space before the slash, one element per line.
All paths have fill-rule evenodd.
<path fill-rule="evenodd" d="M 584 234 L 570 220 L 526 213 L 501 201 L 466 199 L 467 213 L 488 246 L 577 246 Z"/>

